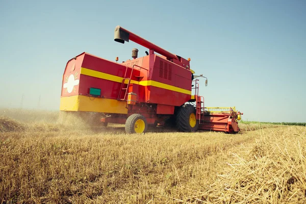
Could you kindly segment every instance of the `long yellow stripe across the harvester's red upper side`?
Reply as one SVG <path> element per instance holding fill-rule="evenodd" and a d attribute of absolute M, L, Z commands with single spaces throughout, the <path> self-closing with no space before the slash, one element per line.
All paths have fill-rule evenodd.
<path fill-rule="evenodd" d="M 118 77 L 118 76 L 108 74 L 108 73 L 103 73 L 103 72 L 100 72 L 100 71 L 95 71 L 95 70 L 92 70 L 92 69 L 87 69 L 87 68 L 84 68 L 84 67 L 81 67 L 81 74 L 88 75 L 90 77 L 96 77 L 96 78 L 99 78 L 99 79 L 110 80 L 110 81 L 118 82 L 118 83 L 121 83 L 122 80 L 123 80 L 122 77 Z M 125 82 L 125 84 L 127 84 L 127 82 Z M 170 90 L 170 91 L 176 91 L 176 92 L 191 95 L 190 90 L 182 89 L 182 88 L 179 88 L 179 87 L 171 86 L 171 85 L 168 85 L 168 84 L 164 84 L 164 83 L 160 83 L 160 82 L 156 82 L 156 81 L 152 81 L 152 80 L 142 81 L 142 82 L 131 80 L 131 84 L 138 84 L 138 85 L 141 85 L 141 86 L 154 86 L 154 87 L 167 89 L 167 90 Z"/>

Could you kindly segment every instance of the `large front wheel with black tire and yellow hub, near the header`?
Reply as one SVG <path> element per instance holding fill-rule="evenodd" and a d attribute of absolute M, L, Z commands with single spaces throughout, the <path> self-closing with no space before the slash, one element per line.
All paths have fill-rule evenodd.
<path fill-rule="evenodd" d="M 190 104 L 185 104 L 180 107 L 176 114 L 176 127 L 182 132 L 195 132 L 198 129 L 199 121 L 196 120 L 195 125 L 189 122 L 191 115 L 195 117 L 195 107 Z"/>

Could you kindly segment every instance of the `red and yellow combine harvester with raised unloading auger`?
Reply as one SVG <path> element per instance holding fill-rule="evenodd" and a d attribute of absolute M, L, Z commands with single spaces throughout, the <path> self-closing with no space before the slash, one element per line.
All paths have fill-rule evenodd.
<path fill-rule="evenodd" d="M 100 121 L 125 124 L 126 133 L 145 133 L 148 125 L 176 125 L 179 131 L 239 132 L 243 113 L 235 108 L 204 107 L 199 78 L 184 59 L 117 26 L 115 41 L 134 41 L 149 49 L 122 63 L 82 53 L 67 62 L 60 110 L 104 113 Z M 157 55 L 158 53 L 160 55 Z M 193 84 L 194 83 L 194 84 Z M 207 86 L 207 78 L 205 81 Z M 195 104 L 194 104 L 195 103 Z M 194 104 L 194 105 L 193 105 Z"/>

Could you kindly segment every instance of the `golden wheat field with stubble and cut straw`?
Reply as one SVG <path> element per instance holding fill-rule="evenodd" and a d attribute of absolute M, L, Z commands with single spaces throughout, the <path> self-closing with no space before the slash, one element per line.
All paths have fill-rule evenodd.
<path fill-rule="evenodd" d="M 0 119 L 1 203 L 306 202 L 304 126 L 127 135 L 35 114 Z"/>

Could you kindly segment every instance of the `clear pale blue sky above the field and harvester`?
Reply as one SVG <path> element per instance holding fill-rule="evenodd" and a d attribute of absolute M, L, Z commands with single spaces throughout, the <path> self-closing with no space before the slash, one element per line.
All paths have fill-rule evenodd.
<path fill-rule="evenodd" d="M 184 58 L 208 78 L 205 106 L 245 120 L 306 122 L 306 1 L 0 0 L 0 107 L 58 110 L 67 61 L 119 61 L 147 50 L 116 25 Z"/>

